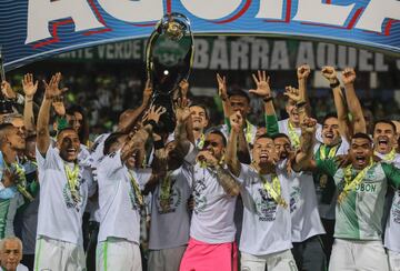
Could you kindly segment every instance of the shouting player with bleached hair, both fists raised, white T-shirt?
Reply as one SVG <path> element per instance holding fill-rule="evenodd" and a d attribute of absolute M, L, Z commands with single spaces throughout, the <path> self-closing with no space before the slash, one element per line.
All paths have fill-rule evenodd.
<path fill-rule="evenodd" d="M 261 136 L 256 139 L 250 167 L 240 164 L 236 158 L 237 138 L 240 132 L 241 116 L 231 117 L 232 131 L 229 139 L 227 163 L 239 177 L 244 204 L 243 228 L 240 239 L 242 270 L 297 270 L 290 249 L 291 217 L 289 182 L 292 173 L 287 173 L 286 162 L 279 160 L 273 139 Z M 312 154 L 316 121 L 306 119 L 302 123 L 303 140 L 300 151 L 292 159 L 298 168 Z"/>

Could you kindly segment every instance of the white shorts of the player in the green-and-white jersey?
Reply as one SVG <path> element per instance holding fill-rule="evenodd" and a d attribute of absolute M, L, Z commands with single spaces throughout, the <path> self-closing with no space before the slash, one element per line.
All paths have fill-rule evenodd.
<path fill-rule="evenodd" d="M 356 270 L 389 271 L 381 241 L 334 240 L 329 271 Z"/>

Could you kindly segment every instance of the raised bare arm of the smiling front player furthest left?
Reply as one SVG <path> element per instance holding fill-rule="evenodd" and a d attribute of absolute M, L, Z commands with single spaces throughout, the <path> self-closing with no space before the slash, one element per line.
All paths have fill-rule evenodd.
<path fill-rule="evenodd" d="M 37 148 L 39 152 L 44 155 L 50 145 L 50 133 L 49 133 L 49 121 L 50 121 L 50 109 L 51 102 L 54 98 L 60 97 L 62 90 L 59 89 L 59 82 L 61 80 L 61 73 L 58 72 L 51 77 L 49 83 L 43 80 L 44 83 L 44 96 L 42 104 L 38 116 L 37 127 Z"/>

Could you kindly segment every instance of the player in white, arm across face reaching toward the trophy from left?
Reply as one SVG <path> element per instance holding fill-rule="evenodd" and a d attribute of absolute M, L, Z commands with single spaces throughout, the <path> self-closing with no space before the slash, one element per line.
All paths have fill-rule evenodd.
<path fill-rule="evenodd" d="M 111 152 L 96 165 L 100 207 L 97 270 L 142 270 L 139 249 L 142 190 L 157 177 L 151 175 L 150 169 L 138 169 L 141 162 L 137 159 L 163 112 L 162 108 L 151 108 L 147 117 L 150 122 L 133 137 L 113 133 L 104 142 L 104 154 Z"/>

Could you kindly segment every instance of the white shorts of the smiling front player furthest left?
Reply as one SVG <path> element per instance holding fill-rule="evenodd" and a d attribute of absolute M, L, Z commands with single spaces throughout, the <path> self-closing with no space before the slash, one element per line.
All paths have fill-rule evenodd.
<path fill-rule="evenodd" d="M 34 271 L 63 270 L 84 271 L 83 248 L 47 237 L 39 237 L 36 242 Z"/>

